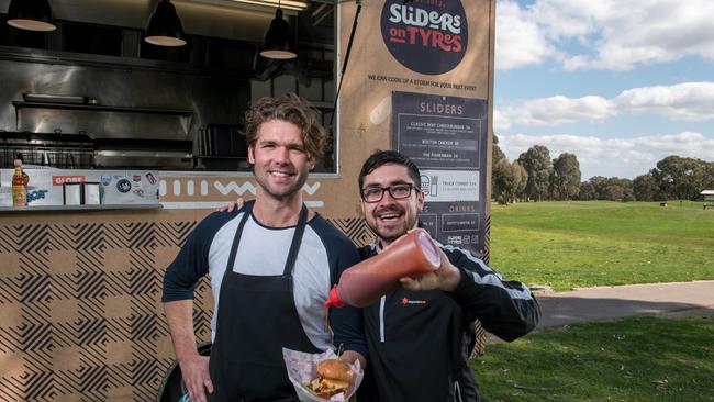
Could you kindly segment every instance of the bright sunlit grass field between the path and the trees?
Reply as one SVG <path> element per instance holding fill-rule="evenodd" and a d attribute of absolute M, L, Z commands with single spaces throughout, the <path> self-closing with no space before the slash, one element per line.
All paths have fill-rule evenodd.
<path fill-rule="evenodd" d="M 492 204 L 490 265 L 506 279 L 576 287 L 714 279 L 702 202 Z"/>

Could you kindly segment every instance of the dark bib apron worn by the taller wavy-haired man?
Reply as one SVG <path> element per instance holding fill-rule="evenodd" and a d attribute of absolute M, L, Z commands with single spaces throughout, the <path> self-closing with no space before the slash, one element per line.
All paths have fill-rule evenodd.
<path fill-rule="evenodd" d="M 308 209 L 302 205 L 285 270 L 278 276 L 233 271 L 241 234 L 252 211 L 250 201 L 245 204 L 221 283 L 215 342 L 209 364 L 214 392 L 209 401 L 298 401 L 288 379 L 282 348 L 321 351 L 305 335 L 292 295 L 292 269 Z"/>

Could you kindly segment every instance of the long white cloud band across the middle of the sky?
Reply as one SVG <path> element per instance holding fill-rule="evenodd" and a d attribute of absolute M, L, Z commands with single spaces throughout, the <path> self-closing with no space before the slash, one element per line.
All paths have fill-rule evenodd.
<path fill-rule="evenodd" d="M 555 126 L 601 122 L 621 113 L 659 114 L 674 121 L 706 121 L 714 120 L 714 82 L 633 88 L 612 99 L 596 96 L 537 98 L 497 107 L 493 113 L 497 130 L 507 130 L 516 124 Z"/>

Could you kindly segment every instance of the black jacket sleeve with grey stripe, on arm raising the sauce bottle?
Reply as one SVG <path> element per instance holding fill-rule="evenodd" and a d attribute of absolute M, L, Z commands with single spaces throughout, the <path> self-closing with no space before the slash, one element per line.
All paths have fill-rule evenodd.
<path fill-rule="evenodd" d="M 468 250 L 451 246 L 443 249 L 461 272 L 450 294 L 470 320 L 479 319 L 488 332 L 509 342 L 536 327 L 540 308 L 525 284 L 503 280 Z"/>

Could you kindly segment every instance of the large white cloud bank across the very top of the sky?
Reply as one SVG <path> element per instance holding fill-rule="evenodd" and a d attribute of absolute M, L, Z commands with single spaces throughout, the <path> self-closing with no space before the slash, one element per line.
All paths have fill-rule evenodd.
<path fill-rule="evenodd" d="M 540 64 L 548 57 L 571 70 L 629 70 L 689 55 L 714 60 L 712 15 L 711 0 L 537 0 L 523 8 L 499 1 L 497 68 Z M 500 41 L 499 35 L 509 37 Z M 524 48 L 512 43 L 528 35 L 534 43 L 524 42 Z M 581 51 L 568 52 L 572 43 Z M 511 48 L 501 48 L 506 45 Z M 507 57 L 500 58 L 501 52 Z M 524 53 L 518 58 L 515 52 Z"/>

